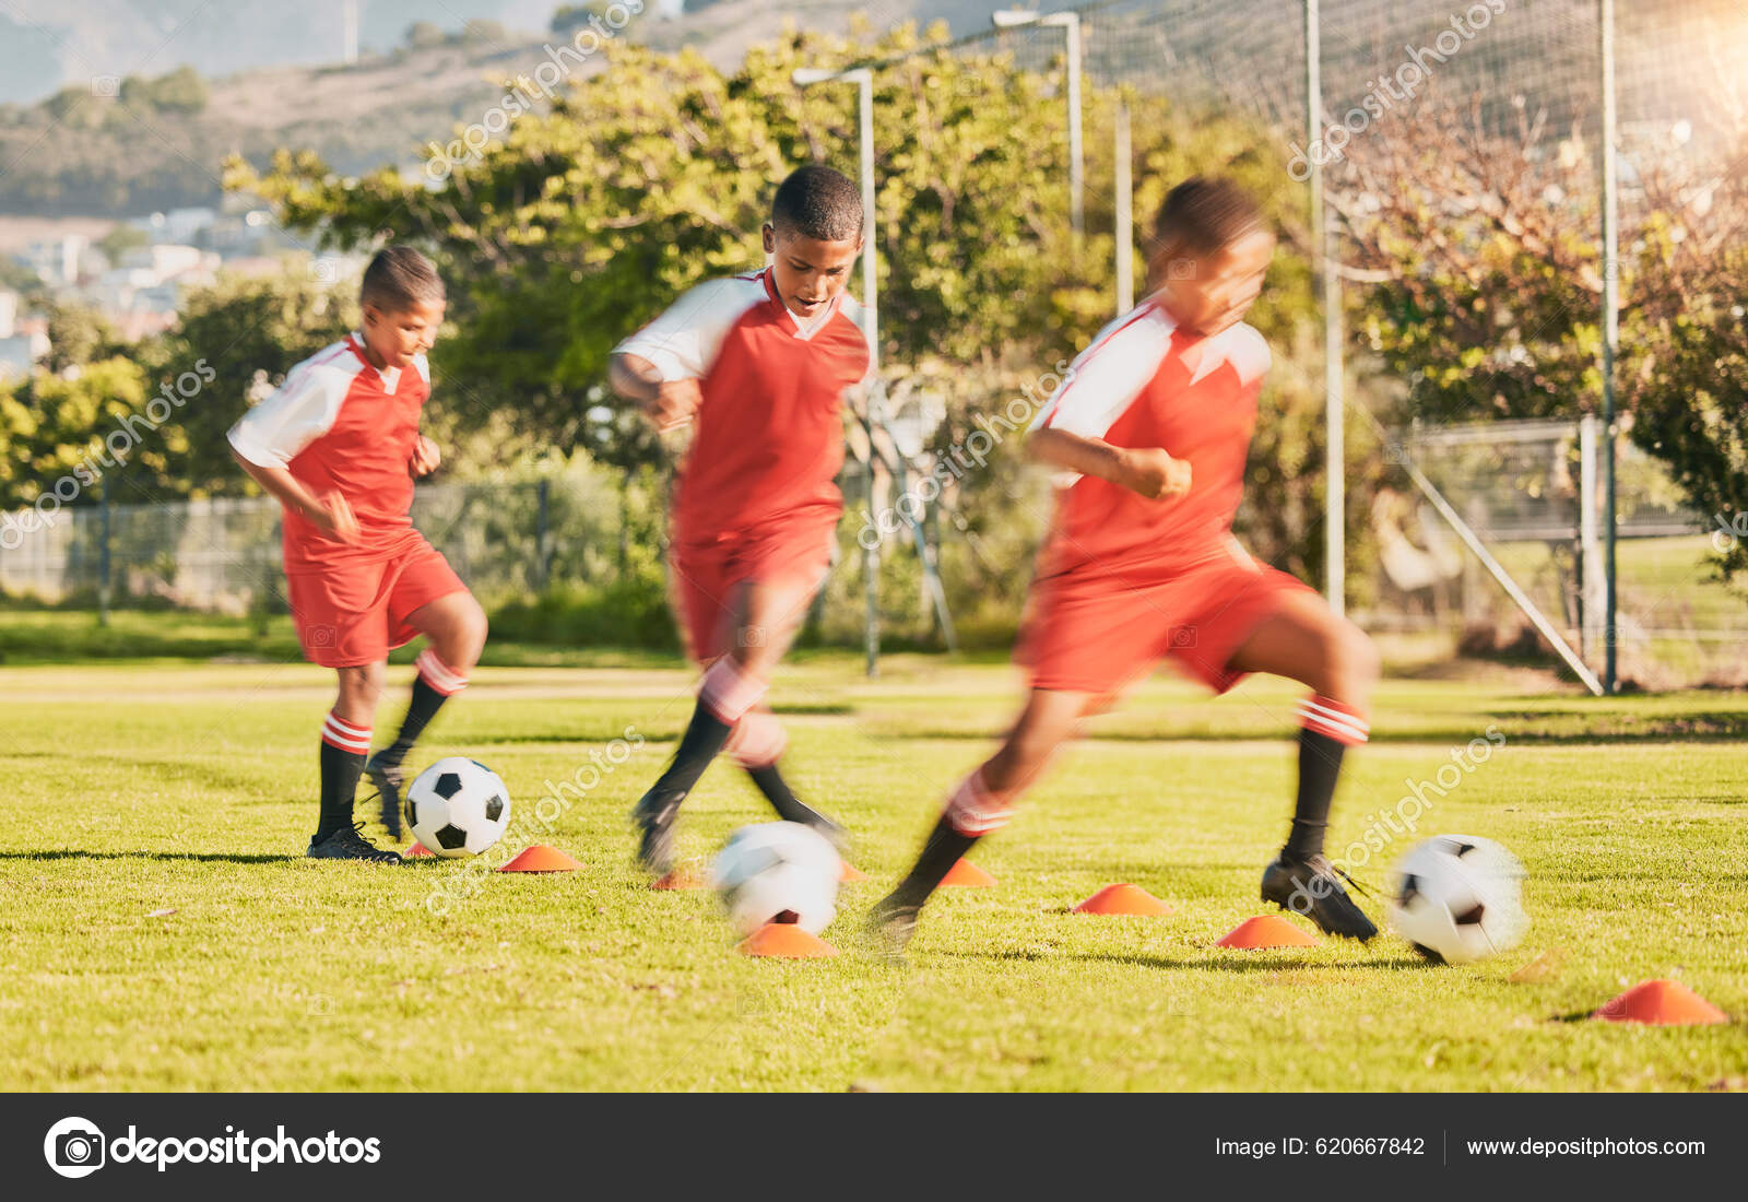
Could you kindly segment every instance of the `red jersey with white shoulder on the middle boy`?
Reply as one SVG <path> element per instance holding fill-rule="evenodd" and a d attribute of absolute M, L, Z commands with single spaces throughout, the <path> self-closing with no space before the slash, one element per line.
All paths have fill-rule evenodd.
<path fill-rule="evenodd" d="M 668 379 L 697 379 L 699 405 L 675 498 L 680 542 L 769 522 L 836 517 L 843 393 L 869 369 L 857 304 L 839 294 L 802 323 L 771 269 L 697 285 L 619 344 Z"/>

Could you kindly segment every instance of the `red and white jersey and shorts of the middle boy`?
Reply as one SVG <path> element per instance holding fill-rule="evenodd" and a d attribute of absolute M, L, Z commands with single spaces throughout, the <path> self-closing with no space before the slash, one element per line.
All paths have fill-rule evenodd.
<path fill-rule="evenodd" d="M 802 321 L 766 269 L 697 285 L 615 348 L 703 393 L 671 540 L 676 608 L 701 662 L 727 650 L 738 585 L 816 587 L 830 566 L 843 395 L 869 369 L 857 313 L 839 294 Z"/>

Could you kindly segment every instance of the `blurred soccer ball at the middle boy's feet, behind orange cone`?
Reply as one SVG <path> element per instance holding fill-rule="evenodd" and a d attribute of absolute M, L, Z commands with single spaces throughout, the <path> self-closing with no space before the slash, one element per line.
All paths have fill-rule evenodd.
<path fill-rule="evenodd" d="M 837 849 L 801 823 L 741 826 L 710 865 L 710 886 L 729 922 L 752 935 L 766 922 L 794 922 L 809 935 L 837 914 Z"/>

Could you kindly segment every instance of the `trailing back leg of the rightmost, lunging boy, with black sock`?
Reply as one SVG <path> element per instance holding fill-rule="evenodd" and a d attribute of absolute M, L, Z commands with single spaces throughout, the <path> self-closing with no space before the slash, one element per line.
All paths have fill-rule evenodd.
<path fill-rule="evenodd" d="M 893 950 L 909 942 L 918 912 L 953 865 L 979 839 L 1007 825 L 1014 802 L 1073 736 L 1092 701 L 1092 694 L 1031 690 L 1002 750 L 960 783 L 923 844 L 916 867 L 874 907 L 869 921 L 884 933 Z"/>

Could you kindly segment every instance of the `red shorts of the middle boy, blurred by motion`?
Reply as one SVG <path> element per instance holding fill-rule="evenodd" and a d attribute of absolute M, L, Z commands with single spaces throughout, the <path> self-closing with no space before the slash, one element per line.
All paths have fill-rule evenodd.
<path fill-rule="evenodd" d="M 829 521 L 809 514 L 708 540 L 675 540 L 669 585 L 687 653 L 708 664 L 732 650 L 736 594 L 746 584 L 792 584 L 804 594 L 797 604 L 806 606 L 832 566 L 836 536 L 836 514 Z"/>

